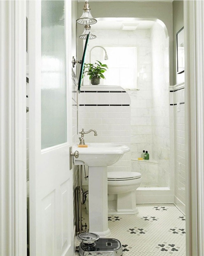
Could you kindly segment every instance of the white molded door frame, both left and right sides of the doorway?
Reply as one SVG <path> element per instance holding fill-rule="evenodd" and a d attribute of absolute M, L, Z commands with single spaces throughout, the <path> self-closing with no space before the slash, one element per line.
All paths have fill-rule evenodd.
<path fill-rule="evenodd" d="M 0 254 L 26 255 L 25 1 L 0 1 Z M 184 1 L 186 255 L 204 255 L 204 3 Z"/>

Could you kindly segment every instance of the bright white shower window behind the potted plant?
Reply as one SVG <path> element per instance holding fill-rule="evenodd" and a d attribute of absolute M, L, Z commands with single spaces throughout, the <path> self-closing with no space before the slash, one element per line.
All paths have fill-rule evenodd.
<path fill-rule="evenodd" d="M 137 88 L 137 51 L 136 47 L 105 47 L 108 71 L 105 72 L 104 85 L 120 85 L 123 88 Z"/>

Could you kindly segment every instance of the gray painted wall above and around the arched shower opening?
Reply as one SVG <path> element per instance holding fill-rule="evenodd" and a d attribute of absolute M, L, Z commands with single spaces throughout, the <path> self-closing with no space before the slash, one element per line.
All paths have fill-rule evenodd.
<path fill-rule="evenodd" d="M 173 8 L 171 2 L 133 2 L 133 1 L 90 1 L 91 13 L 94 18 L 132 17 L 155 18 L 162 20 L 168 30 L 170 43 L 170 85 L 173 85 Z M 78 3 L 78 17 L 82 15 L 84 2 Z M 94 26 L 94 25 L 93 25 Z M 92 26 L 92 27 L 93 27 Z M 94 27 L 93 27 L 94 28 Z M 84 27 L 78 25 L 78 36 Z M 94 39 L 93 39 L 94 40 Z M 83 49 L 82 40 L 78 40 L 78 48 Z M 79 59 L 82 52 L 79 52 Z"/>

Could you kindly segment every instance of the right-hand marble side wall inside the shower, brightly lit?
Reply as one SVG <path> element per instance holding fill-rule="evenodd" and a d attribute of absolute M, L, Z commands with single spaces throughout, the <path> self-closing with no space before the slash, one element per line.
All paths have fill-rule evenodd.
<path fill-rule="evenodd" d="M 169 78 L 168 41 L 164 29 L 158 23 L 151 28 L 152 54 L 152 157 L 158 161 L 158 185 L 170 187 L 170 111 L 169 111 Z M 168 72 L 167 72 L 168 73 Z M 173 186 L 171 186 L 173 187 Z"/>

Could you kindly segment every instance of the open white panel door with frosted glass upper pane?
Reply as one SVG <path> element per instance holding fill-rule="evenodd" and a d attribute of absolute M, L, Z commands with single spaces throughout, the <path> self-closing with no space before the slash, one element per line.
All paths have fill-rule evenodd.
<path fill-rule="evenodd" d="M 73 256 L 71 1 L 27 2 L 30 255 Z"/>

